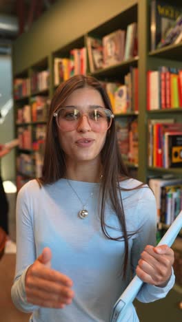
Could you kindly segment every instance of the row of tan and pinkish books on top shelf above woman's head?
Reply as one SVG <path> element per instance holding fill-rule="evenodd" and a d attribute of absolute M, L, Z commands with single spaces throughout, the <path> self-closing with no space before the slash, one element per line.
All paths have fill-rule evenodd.
<path fill-rule="evenodd" d="M 130 23 L 126 30 L 115 30 L 103 38 L 88 36 L 86 44 L 90 72 L 127 61 L 138 54 L 137 23 Z"/>

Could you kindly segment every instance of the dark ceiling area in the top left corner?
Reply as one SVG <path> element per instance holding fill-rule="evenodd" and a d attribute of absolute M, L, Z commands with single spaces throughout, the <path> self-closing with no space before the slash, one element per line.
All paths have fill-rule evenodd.
<path fill-rule="evenodd" d="M 0 0 L 0 48 L 27 31 L 57 0 Z M 1 50 L 0 50 L 1 54 Z"/>

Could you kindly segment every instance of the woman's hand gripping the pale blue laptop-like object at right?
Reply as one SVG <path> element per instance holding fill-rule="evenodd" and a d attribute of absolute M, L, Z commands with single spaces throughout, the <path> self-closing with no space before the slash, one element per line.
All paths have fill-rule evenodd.
<path fill-rule="evenodd" d="M 174 252 L 167 245 L 146 246 L 141 253 L 136 275 L 145 283 L 164 287 L 171 276 Z"/>

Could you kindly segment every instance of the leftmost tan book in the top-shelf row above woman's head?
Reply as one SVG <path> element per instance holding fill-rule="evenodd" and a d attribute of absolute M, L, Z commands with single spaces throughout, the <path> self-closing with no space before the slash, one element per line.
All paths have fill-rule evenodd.
<path fill-rule="evenodd" d="M 86 38 L 90 72 L 103 68 L 103 44 L 99 38 L 88 36 Z"/>

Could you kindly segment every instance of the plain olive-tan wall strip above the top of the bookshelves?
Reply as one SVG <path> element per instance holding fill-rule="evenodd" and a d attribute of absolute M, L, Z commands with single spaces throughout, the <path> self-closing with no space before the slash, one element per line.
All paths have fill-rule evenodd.
<path fill-rule="evenodd" d="M 13 72 L 19 74 L 63 45 L 137 3 L 137 0 L 60 0 L 13 44 Z"/>

